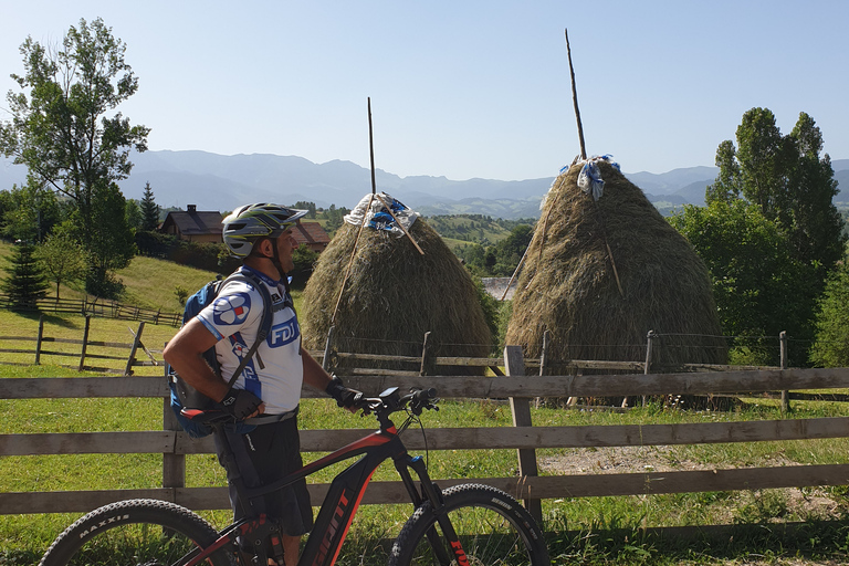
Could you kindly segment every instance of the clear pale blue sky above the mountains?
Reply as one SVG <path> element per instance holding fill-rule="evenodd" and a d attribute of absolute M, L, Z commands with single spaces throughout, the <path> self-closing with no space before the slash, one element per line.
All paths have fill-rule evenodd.
<path fill-rule="evenodd" d="M 849 158 L 843 0 L 0 0 L 0 93 L 81 18 L 126 44 L 153 150 L 369 167 L 370 98 L 379 169 L 553 177 L 580 153 L 568 29 L 586 151 L 626 172 L 713 166 L 753 107 Z"/>

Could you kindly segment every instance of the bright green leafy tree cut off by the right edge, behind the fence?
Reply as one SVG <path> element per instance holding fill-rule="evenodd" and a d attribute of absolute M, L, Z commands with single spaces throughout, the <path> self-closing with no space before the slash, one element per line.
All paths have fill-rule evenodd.
<path fill-rule="evenodd" d="M 826 282 L 816 328 L 810 360 L 824 367 L 849 366 L 849 255 Z"/>

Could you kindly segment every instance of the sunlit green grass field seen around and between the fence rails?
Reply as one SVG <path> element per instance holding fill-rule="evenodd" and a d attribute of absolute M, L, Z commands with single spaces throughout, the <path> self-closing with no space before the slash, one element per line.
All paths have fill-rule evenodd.
<path fill-rule="evenodd" d="M 151 262 L 149 265 L 148 262 Z M 150 277 L 150 274 L 155 274 Z M 195 289 L 212 274 L 137 259 L 122 272 L 128 296 L 140 304 L 163 307 L 171 300 L 176 284 Z M 149 280 L 164 282 L 150 283 Z M 143 284 L 144 283 L 144 284 Z M 176 303 L 176 300 L 174 300 Z M 300 301 L 300 296 L 296 297 Z M 175 304 L 174 310 L 177 310 Z M 4 336 L 34 335 L 35 316 L 0 311 Z M 128 327 L 136 323 L 92 319 L 92 339 L 129 342 Z M 83 318 L 45 318 L 45 334 L 78 338 Z M 144 342 L 161 349 L 175 328 L 146 325 Z M 20 346 L 20 344 L 18 344 Z M 0 347 L 8 347 L 0 344 Z M 2 360 L 19 356 L 2 354 Z M 21 355 L 23 356 L 23 355 Z M 23 356 L 25 357 L 25 356 Z M 21 363 L 25 363 L 21 360 Z M 158 368 L 150 368 L 159 371 Z M 0 378 L 57 377 L 78 375 L 55 365 L 3 366 Z M 1 384 L 1 382 L 0 382 Z M 446 401 L 442 410 L 423 417 L 427 428 L 509 427 L 510 409 L 495 401 Z M 102 430 L 157 430 L 161 427 L 161 401 L 157 399 L 51 399 L 0 400 L 0 434 Z M 838 402 L 794 401 L 794 418 L 847 416 L 849 406 Z M 726 412 L 679 411 L 649 405 L 628 412 L 588 412 L 555 407 L 533 409 L 536 426 L 586 426 L 703 422 L 779 418 L 776 403 L 754 401 Z M 374 428 L 335 407 L 329 400 L 306 399 L 300 417 L 302 428 Z M 689 467 L 735 468 L 759 465 L 846 463 L 846 439 L 635 447 L 635 450 L 583 449 L 539 450 L 543 473 L 611 473 Z M 306 454 L 307 460 L 322 454 Z M 513 450 L 444 451 L 429 454 L 431 475 L 439 478 L 507 476 L 516 471 Z M 326 482 L 340 465 L 313 480 Z M 376 480 L 395 479 L 384 465 Z M 95 490 L 154 488 L 161 481 L 161 457 L 156 454 L 7 457 L 0 460 L 3 491 Z M 189 457 L 187 484 L 224 485 L 223 471 L 211 454 Z M 314 502 L 318 503 L 318 502 Z M 352 528 L 338 564 L 380 564 L 381 543 L 392 538 L 410 514 L 405 505 L 364 506 Z M 203 513 L 221 527 L 228 512 Z M 849 548 L 849 496 L 846 488 L 767 490 L 758 492 L 710 492 L 630 497 L 585 497 L 549 500 L 544 503 L 545 528 L 555 564 L 832 564 L 845 563 Z M 50 542 L 78 514 L 0 515 L 0 565 L 35 564 Z M 799 533 L 784 534 L 779 525 L 803 522 Z M 644 527 L 712 524 L 754 525 L 733 537 L 694 541 L 656 539 Z M 795 562 L 794 562 L 795 560 Z"/>

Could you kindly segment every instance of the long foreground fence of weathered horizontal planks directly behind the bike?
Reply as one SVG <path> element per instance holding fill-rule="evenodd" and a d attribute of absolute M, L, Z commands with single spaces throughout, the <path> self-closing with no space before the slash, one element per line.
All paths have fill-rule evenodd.
<path fill-rule="evenodd" d="M 491 360 L 485 360 L 486 363 Z M 483 363 L 483 361 L 482 361 Z M 651 495 L 704 491 L 758 490 L 849 484 L 849 464 L 786 465 L 773 468 L 710 469 L 698 471 L 623 474 L 537 474 L 536 449 L 591 447 L 651 447 L 727 442 L 818 440 L 849 437 L 849 417 L 780 419 L 679 424 L 623 424 L 534 427 L 530 399 L 536 397 L 608 397 L 746 394 L 849 388 L 849 368 L 772 369 L 723 373 L 633 374 L 594 376 L 526 376 L 521 348 L 505 348 L 504 376 L 352 376 L 348 384 L 369 395 L 386 387 L 436 387 L 441 398 L 509 399 L 512 428 L 428 429 L 427 447 L 415 431 L 405 436 L 411 451 L 488 450 L 517 451 L 520 473 L 509 478 L 440 480 L 446 488 L 475 481 L 494 485 L 523 499 L 536 515 L 539 500 L 609 495 Z M 489 365 L 489 364 L 488 364 Z M 163 430 L 0 434 L 0 455 L 78 453 L 161 453 L 161 485 L 147 489 L 0 493 L 0 513 L 85 512 L 108 502 L 156 497 L 190 509 L 228 509 L 226 488 L 187 488 L 186 455 L 213 452 L 212 441 L 191 440 L 177 430 L 167 403 L 161 377 L 18 378 L 3 379 L 0 398 L 147 397 L 164 399 Z M 304 397 L 322 397 L 305 388 Z M 302 450 L 324 452 L 360 438 L 359 430 L 304 430 Z M 327 484 L 311 484 L 313 501 L 323 501 Z M 373 482 L 364 503 L 403 503 L 399 482 Z"/>

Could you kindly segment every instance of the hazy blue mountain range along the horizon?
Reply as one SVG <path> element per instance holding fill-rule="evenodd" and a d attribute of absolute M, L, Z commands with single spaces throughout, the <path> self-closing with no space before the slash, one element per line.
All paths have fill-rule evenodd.
<path fill-rule="evenodd" d="M 120 181 L 126 198 L 142 199 L 150 184 L 161 207 L 197 205 L 199 210 L 232 210 L 247 202 L 315 202 L 327 208 L 354 208 L 371 191 L 369 169 L 350 161 L 314 164 L 303 157 L 266 154 L 223 156 L 206 151 L 145 151 L 130 157 L 130 176 Z M 831 163 L 840 187 L 849 187 L 849 159 Z M 704 190 L 716 178 L 716 167 L 688 167 L 664 174 L 625 172 L 662 212 L 686 203 L 704 205 Z M 0 161 L 0 190 L 25 181 L 25 168 Z M 377 169 L 375 184 L 426 216 L 473 213 L 516 219 L 539 216 L 539 202 L 554 176 L 502 181 L 397 175 Z M 849 190 L 836 203 L 849 205 Z"/>

